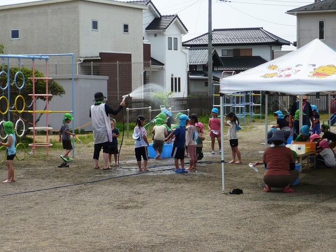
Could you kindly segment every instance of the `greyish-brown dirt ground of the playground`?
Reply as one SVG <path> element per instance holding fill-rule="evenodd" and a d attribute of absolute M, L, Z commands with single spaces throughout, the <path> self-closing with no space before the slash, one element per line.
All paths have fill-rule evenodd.
<path fill-rule="evenodd" d="M 93 169 L 93 143 L 75 145 L 69 168 L 57 167 L 63 150 L 47 156 L 39 147 L 35 158 L 14 160 L 16 182 L 0 184 L 0 251 L 336 251 L 336 169 L 305 169 L 295 193 L 265 193 L 261 166 L 248 166 L 261 161 L 263 138 L 262 123 L 243 126 L 243 164 L 224 165 L 224 194 L 209 137 L 197 172 L 187 174 L 173 172 L 173 159 L 151 159 L 150 172 L 137 173 L 131 139 L 122 168 L 107 171 Z M 228 194 L 233 188 L 243 194 Z"/>

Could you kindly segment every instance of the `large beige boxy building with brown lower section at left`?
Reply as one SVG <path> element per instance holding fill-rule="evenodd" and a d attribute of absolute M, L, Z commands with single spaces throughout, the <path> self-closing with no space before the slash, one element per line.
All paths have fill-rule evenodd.
<path fill-rule="evenodd" d="M 111 0 L 44 0 L 0 6 L 0 44 L 5 54 L 65 54 L 80 62 L 101 63 L 91 73 L 109 76 L 109 101 L 137 86 L 130 62 L 143 65 L 142 16 L 147 6 Z M 102 68 L 107 62 L 127 62 L 127 74 Z M 49 66 L 69 64 L 66 57 L 50 57 Z M 68 69 L 71 69 L 71 64 Z M 49 73 L 51 74 L 51 73 Z M 60 71 L 58 72 L 60 73 Z M 64 73 L 63 73 L 64 74 Z M 82 72 L 83 74 L 83 72 Z"/>

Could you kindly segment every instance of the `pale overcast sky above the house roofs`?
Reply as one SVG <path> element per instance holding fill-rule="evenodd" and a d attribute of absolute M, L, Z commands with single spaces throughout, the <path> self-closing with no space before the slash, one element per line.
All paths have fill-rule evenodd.
<path fill-rule="evenodd" d="M 1 0 L 0 5 L 31 1 L 34 0 Z M 152 2 L 162 15 L 178 14 L 188 29 L 183 41 L 208 32 L 209 0 Z M 293 42 L 296 41 L 296 17 L 285 12 L 313 2 L 314 0 L 212 0 L 212 29 L 263 27 L 266 31 Z M 294 47 L 288 49 L 294 50 Z"/>

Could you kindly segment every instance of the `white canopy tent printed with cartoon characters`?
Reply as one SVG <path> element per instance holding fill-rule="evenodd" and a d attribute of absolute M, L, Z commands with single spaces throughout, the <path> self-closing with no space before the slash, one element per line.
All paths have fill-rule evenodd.
<path fill-rule="evenodd" d="M 293 95 L 312 92 L 335 93 L 336 51 L 319 39 L 315 39 L 280 58 L 245 72 L 220 79 L 222 148 L 224 147 L 224 95 L 251 90 L 266 92 L 266 109 L 267 92 L 282 92 Z M 302 116 L 302 109 L 300 111 L 300 116 Z M 267 122 L 267 111 L 265 115 Z M 267 123 L 265 127 L 267 131 Z M 222 182 L 224 193 L 224 151 L 222 151 Z"/>

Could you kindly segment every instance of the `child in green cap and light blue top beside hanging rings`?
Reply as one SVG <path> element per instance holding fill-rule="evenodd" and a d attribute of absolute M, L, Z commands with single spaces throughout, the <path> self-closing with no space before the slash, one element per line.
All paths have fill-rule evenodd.
<path fill-rule="evenodd" d="M 2 181 L 2 183 L 11 183 L 11 182 L 15 181 L 13 160 L 14 160 L 14 157 L 16 155 L 15 146 L 16 146 L 16 143 L 17 143 L 17 139 L 16 139 L 16 136 L 15 136 L 14 127 L 13 127 L 12 122 L 10 122 L 10 121 L 4 122 L 3 123 L 3 129 L 4 129 L 5 133 L 8 134 L 7 143 L 4 144 L 4 143 L 0 142 L 0 146 L 6 146 L 7 147 L 8 176 L 7 176 L 7 180 Z"/>

